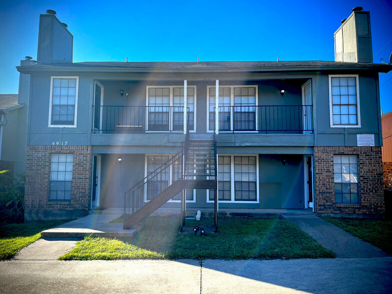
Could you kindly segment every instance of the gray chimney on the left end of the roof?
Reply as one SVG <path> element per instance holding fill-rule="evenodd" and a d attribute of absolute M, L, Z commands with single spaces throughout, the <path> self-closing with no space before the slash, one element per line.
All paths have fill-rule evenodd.
<path fill-rule="evenodd" d="M 37 64 L 72 62 L 73 35 L 67 25 L 48 9 L 39 14 Z"/>

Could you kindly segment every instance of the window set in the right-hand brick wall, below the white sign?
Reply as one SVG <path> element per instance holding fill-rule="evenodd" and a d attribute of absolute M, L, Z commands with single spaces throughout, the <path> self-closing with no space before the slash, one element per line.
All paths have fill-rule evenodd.
<path fill-rule="evenodd" d="M 335 202 L 339 204 L 358 204 L 357 156 L 334 155 L 333 174 L 335 183 Z"/>

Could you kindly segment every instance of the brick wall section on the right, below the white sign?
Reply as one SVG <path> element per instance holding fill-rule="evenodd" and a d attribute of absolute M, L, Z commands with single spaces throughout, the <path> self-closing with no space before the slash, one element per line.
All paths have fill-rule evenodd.
<path fill-rule="evenodd" d="M 336 204 L 333 178 L 333 155 L 358 156 L 359 204 Z M 314 147 L 316 212 L 384 214 L 381 147 Z"/>

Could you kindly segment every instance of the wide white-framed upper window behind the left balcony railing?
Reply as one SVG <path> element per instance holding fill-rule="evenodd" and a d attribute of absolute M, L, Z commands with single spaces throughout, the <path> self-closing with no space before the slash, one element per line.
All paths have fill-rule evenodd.
<path fill-rule="evenodd" d="M 195 130 L 196 87 L 186 87 L 188 128 Z M 147 86 L 147 130 L 182 131 L 184 87 Z"/>

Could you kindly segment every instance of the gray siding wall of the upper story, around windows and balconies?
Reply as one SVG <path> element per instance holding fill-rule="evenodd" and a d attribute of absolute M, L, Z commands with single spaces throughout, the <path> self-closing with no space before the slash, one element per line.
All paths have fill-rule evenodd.
<path fill-rule="evenodd" d="M 336 74 L 337 72 L 331 72 Z M 349 72 L 348 72 L 349 73 Z M 113 144 L 113 136 L 102 134 L 91 134 L 92 126 L 92 104 L 93 104 L 93 87 L 94 76 L 92 74 L 77 74 L 74 72 L 61 73 L 56 72 L 51 75 L 55 76 L 79 76 L 78 104 L 77 104 L 77 127 L 75 128 L 58 128 L 48 127 L 49 111 L 49 94 L 50 94 L 50 75 L 38 74 L 32 75 L 30 111 L 29 111 L 29 132 L 27 144 L 52 144 L 52 142 L 64 142 L 71 145 L 110 145 Z M 282 76 L 284 77 L 284 76 Z M 125 77 L 124 77 L 125 78 Z M 276 77 L 277 78 L 277 77 Z M 98 79 L 104 86 L 104 105 L 145 105 L 146 85 L 178 85 L 182 86 L 182 81 L 121 81 L 121 80 L 102 80 Z M 259 105 L 291 105 L 301 104 L 301 85 L 306 81 L 301 79 L 285 80 L 259 80 L 259 81 L 228 81 L 220 80 L 220 86 L 224 85 L 258 85 L 258 104 Z M 196 85 L 196 116 L 197 116 L 197 133 L 205 133 L 207 129 L 207 85 L 214 85 L 213 80 L 192 81 L 188 80 L 188 85 Z M 375 144 L 381 143 L 379 136 L 380 131 L 380 113 L 379 113 L 379 96 L 377 91 L 378 77 L 377 74 L 359 75 L 359 97 L 360 97 L 360 117 L 361 127 L 357 128 L 331 128 L 329 126 L 329 87 L 328 74 L 314 75 L 312 79 L 313 93 L 313 120 L 314 120 L 314 141 L 313 139 L 294 139 L 293 145 L 307 144 L 313 145 L 356 145 L 357 133 L 373 133 Z M 284 88 L 284 96 L 280 96 L 280 89 Z M 119 90 L 123 89 L 128 92 L 120 96 Z M 116 134 L 123 136 L 121 141 L 133 141 L 134 135 Z M 258 136 L 258 135 L 257 135 Z M 302 137 L 301 135 L 297 135 Z M 310 134 L 313 137 L 312 134 Z M 260 140 L 263 137 L 259 135 Z M 278 141 L 273 141 L 276 145 L 281 141 L 284 145 L 289 142 L 287 137 L 276 136 Z M 115 140 L 115 139 L 114 139 Z M 230 139 L 231 140 L 231 139 Z M 117 140 L 118 141 L 118 140 Z M 257 141 L 257 140 L 256 140 Z M 168 141 L 156 141 L 155 145 L 165 145 Z M 116 143 L 117 144 L 117 143 Z M 121 144 L 118 142 L 118 144 Z M 259 144 L 262 145 L 261 141 Z M 267 143 L 269 144 L 269 143 Z M 272 143 L 271 143 L 272 144 Z M 150 145 L 150 144 L 147 144 Z"/>

